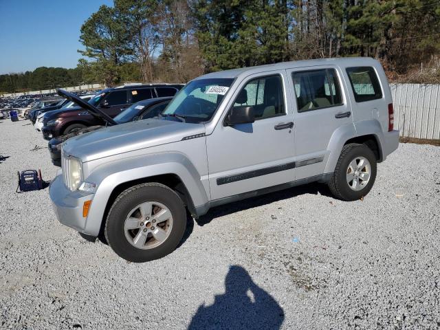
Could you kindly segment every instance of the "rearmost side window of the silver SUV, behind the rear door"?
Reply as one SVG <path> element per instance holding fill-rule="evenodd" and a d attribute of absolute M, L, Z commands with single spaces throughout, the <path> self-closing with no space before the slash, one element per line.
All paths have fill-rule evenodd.
<path fill-rule="evenodd" d="M 379 79 L 373 67 L 347 67 L 356 102 L 382 98 Z"/>

